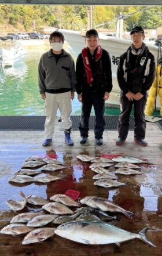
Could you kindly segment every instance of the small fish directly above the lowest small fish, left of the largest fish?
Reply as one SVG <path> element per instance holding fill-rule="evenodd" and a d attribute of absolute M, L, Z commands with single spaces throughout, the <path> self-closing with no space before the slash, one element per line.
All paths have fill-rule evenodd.
<path fill-rule="evenodd" d="M 35 216 L 27 223 L 27 226 L 38 227 L 45 226 L 46 224 L 54 221 L 58 217 L 57 214 L 42 214 L 39 216 Z"/>

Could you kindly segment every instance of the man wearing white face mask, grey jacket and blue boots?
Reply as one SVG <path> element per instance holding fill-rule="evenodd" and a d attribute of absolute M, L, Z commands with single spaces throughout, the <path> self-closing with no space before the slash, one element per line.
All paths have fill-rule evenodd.
<path fill-rule="evenodd" d="M 69 146 L 73 146 L 70 114 L 71 100 L 73 100 L 75 92 L 75 66 L 71 55 L 62 49 L 64 44 L 62 33 L 54 31 L 50 34 L 49 41 L 51 49 L 42 55 L 38 66 L 39 91 L 42 99 L 46 100 L 43 146 L 52 142 L 58 109 L 62 117 L 65 142 Z"/>

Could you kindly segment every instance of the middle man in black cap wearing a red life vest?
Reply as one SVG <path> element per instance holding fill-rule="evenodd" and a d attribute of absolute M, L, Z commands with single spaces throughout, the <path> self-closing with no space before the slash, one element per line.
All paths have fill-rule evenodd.
<path fill-rule="evenodd" d="M 76 92 L 82 102 L 82 117 L 79 123 L 81 144 L 86 143 L 89 136 L 89 118 L 92 106 L 95 112 L 95 141 L 102 145 L 105 128 L 105 100 L 112 90 L 112 71 L 109 53 L 99 45 L 97 30 L 86 32 L 86 48 L 82 49 L 76 62 Z"/>

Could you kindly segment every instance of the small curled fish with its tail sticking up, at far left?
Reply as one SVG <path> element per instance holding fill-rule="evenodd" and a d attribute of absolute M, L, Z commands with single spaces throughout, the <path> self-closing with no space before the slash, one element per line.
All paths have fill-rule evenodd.
<path fill-rule="evenodd" d="M 22 210 L 25 205 L 27 204 L 27 198 L 25 197 L 24 193 L 22 191 L 20 191 L 20 196 L 23 197 L 23 201 L 16 201 L 16 200 L 12 200 L 12 199 L 9 199 L 9 200 L 6 200 L 6 204 L 8 204 L 8 206 L 14 211 L 20 211 Z"/>

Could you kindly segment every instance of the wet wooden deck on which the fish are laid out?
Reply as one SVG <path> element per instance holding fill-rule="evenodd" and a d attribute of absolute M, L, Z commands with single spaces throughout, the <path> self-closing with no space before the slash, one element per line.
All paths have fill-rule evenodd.
<path fill-rule="evenodd" d="M 7 199 L 21 200 L 20 190 L 29 194 L 37 194 L 49 199 L 56 193 L 65 193 L 68 189 L 78 190 L 80 198 L 88 195 L 104 196 L 128 211 L 135 213 L 133 219 L 128 219 L 119 214 L 119 221 L 113 224 L 130 232 L 138 233 L 143 228 L 149 227 L 146 234 L 148 240 L 156 245 L 150 247 L 139 239 L 126 241 L 118 247 L 116 244 L 104 246 L 93 246 L 79 244 L 57 235 L 42 243 L 35 243 L 23 246 L 21 241 L 24 236 L 10 236 L 0 234 L 0 255 L 6 256 L 153 256 L 162 255 L 162 134 L 161 130 L 154 123 L 147 123 L 146 140 L 148 147 L 140 147 L 133 142 L 133 132 L 128 134 L 124 146 L 117 147 L 115 140 L 117 131 L 104 132 L 104 145 L 96 146 L 94 132 L 90 131 L 89 140 L 86 145 L 80 145 L 79 131 L 72 132 L 75 142 L 73 147 L 64 143 L 63 131 L 60 124 L 57 124 L 53 138 L 53 145 L 42 147 L 43 132 L 41 131 L 0 131 L 0 229 L 8 225 L 10 219 L 16 215 L 9 209 L 5 201 Z M 56 139 L 55 139 L 56 138 Z M 71 165 L 70 170 L 61 171 L 67 174 L 64 181 L 50 182 L 48 185 L 13 185 L 8 179 L 13 173 L 20 169 L 25 158 L 36 154 L 46 154 L 55 150 L 58 159 Z M 104 189 L 93 185 L 93 172 L 89 170 L 89 164 L 82 163 L 76 159 L 78 154 L 89 156 L 101 156 L 102 154 L 122 154 L 132 157 L 146 158 L 154 165 L 142 168 L 143 175 L 125 176 L 119 175 L 117 181 L 125 182 L 127 186 L 120 186 L 115 189 Z M 25 211 L 39 211 L 39 207 L 27 205 Z M 41 210 L 41 209 L 40 209 Z M 47 226 L 54 226 L 50 224 Z"/>

